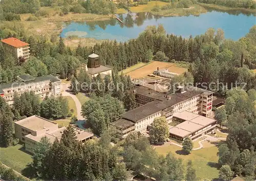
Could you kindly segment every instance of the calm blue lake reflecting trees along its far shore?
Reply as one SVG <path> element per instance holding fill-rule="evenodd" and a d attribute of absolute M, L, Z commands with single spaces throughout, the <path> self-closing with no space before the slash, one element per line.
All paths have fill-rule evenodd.
<path fill-rule="evenodd" d="M 255 15 L 255 14 L 254 14 Z M 221 28 L 226 39 L 238 40 L 246 35 L 249 29 L 256 24 L 253 14 L 240 12 L 217 12 L 210 10 L 199 16 L 161 17 L 150 13 L 132 13 L 117 15 L 123 24 L 115 18 L 106 21 L 69 22 L 63 29 L 61 36 L 76 35 L 83 38 L 116 39 L 127 41 L 137 38 L 148 25 L 163 24 L 168 34 L 181 35 L 188 38 L 190 35 L 204 34 L 208 28 Z"/>

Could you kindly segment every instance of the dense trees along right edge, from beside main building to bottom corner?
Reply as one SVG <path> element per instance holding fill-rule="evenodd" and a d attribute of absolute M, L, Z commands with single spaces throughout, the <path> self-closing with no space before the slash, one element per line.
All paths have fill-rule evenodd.
<path fill-rule="evenodd" d="M 228 128 L 227 141 L 219 147 L 220 177 L 232 179 L 233 174 L 254 180 L 256 173 L 256 91 L 231 90 L 220 120 Z"/>

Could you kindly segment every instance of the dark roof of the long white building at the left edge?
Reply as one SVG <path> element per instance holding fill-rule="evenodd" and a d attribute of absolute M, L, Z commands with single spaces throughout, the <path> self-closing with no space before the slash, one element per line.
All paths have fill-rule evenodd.
<path fill-rule="evenodd" d="M 4 89 L 19 87 L 20 85 L 24 86 L 26 84 L 29 85 L 32 83 L 38 83 L 38 82 L 42 82 L 42 81 L 59 82 L 61 80 L 59 80 L 57 77 L 55 77 L 53 75 L 38 76 L 34 80 L 30 80 L 30 81 L 26 81 L 26 82 L 13 82 L 13 83 L 9 83 L 9 84 L 1 84 L 0 85 L 0 93 L 4 93 L 4 91 L 3 91 Z"/>

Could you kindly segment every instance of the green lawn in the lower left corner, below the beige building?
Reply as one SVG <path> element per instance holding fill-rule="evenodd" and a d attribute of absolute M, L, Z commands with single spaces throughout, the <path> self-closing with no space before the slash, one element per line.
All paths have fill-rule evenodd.
<path fill-rule="evenodd" d="M 32 156 L 23 150 L 25 149 L 20 144 L 8 148 L 0 148 L 0 161 L 17 172 L 22 173 L 22 170 L 32 162 Z"/>

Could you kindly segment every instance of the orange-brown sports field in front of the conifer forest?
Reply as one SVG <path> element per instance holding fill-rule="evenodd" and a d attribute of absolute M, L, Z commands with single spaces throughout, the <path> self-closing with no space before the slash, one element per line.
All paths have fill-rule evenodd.
<path fill-rule="evenodd" d="M 127 75 L 130 75 L 134 79 L 145 77 L 148 74 L 153 73 L 153 71 L 156 70 L 157 67 L 159 69 L 168 68 L 170 72 L 179 73 L 179 74 L 187 71 L 186 68 L 178 67 L 176 66 L 175 63 L 152 61 L 147 65 L 142 66 L 141 68 L 137 68 L 134 71 L 130 71 L 129 73 L 127 73 Z"/>

